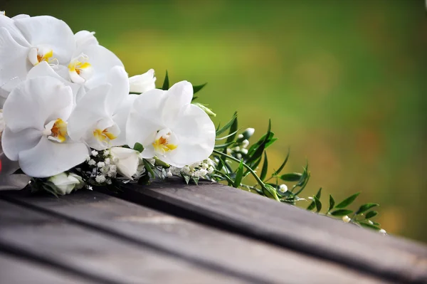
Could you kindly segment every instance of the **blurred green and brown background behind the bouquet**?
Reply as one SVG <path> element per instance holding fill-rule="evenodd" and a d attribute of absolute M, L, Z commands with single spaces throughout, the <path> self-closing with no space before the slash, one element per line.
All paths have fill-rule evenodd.
<path fill-rule="evenodd" d="M 287 172 L 310 162 L 305 194 L 362 191 L 389 233 L 427 242 L 427 11 L 423 0 L 16 1 L 95 31 L 130 75 L 209 82 L 200 101 L 280 140 Z M 327 196 L 325 194 L 325 196 Z"/>

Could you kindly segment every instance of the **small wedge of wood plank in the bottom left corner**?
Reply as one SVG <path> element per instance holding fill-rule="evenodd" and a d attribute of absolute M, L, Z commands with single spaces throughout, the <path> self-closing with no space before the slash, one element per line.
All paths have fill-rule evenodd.
<path fill-rule="evenodd" d="M 81 275 L 56 270 L 48 265 L 0 253 L 0 283 L 4 284 L 89 284 L 95 283 Z"/>

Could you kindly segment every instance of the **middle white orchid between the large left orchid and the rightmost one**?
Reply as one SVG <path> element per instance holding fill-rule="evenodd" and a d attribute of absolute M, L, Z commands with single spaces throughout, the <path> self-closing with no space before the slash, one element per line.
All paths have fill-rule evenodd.
<path fill-rule="evenodd" d="M 68 135 L 97 150 L 126 144 L 127 115 L 137 97 L 129 95 L 124 68 L 112 68 L 107 81 L 110 84 L 89 90 L 78 101 L 68 120 Z"/>

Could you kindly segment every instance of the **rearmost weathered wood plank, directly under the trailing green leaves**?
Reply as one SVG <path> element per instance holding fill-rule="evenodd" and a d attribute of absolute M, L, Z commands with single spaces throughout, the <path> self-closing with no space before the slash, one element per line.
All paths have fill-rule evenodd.
<path fill-rule="evenodd" d="M 427 283 L 427 247 L 222 184 L 132 185 L 123 199 L 406 283 Z"/>

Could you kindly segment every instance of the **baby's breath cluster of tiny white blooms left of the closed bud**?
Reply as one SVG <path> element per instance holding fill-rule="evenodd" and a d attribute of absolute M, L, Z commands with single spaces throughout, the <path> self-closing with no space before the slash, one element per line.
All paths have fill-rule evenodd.
<path fill-rule="evenodd" d="M 86 163 L 92 168 L 90 177 L 95 179 L 97 184 L 112 184 L 111 179 L 117 175 L 115 159 L 110 155 L 109 150 L 102 151 L 102 154 L 93 150 L 91 155 L 86 157 Z"/>

